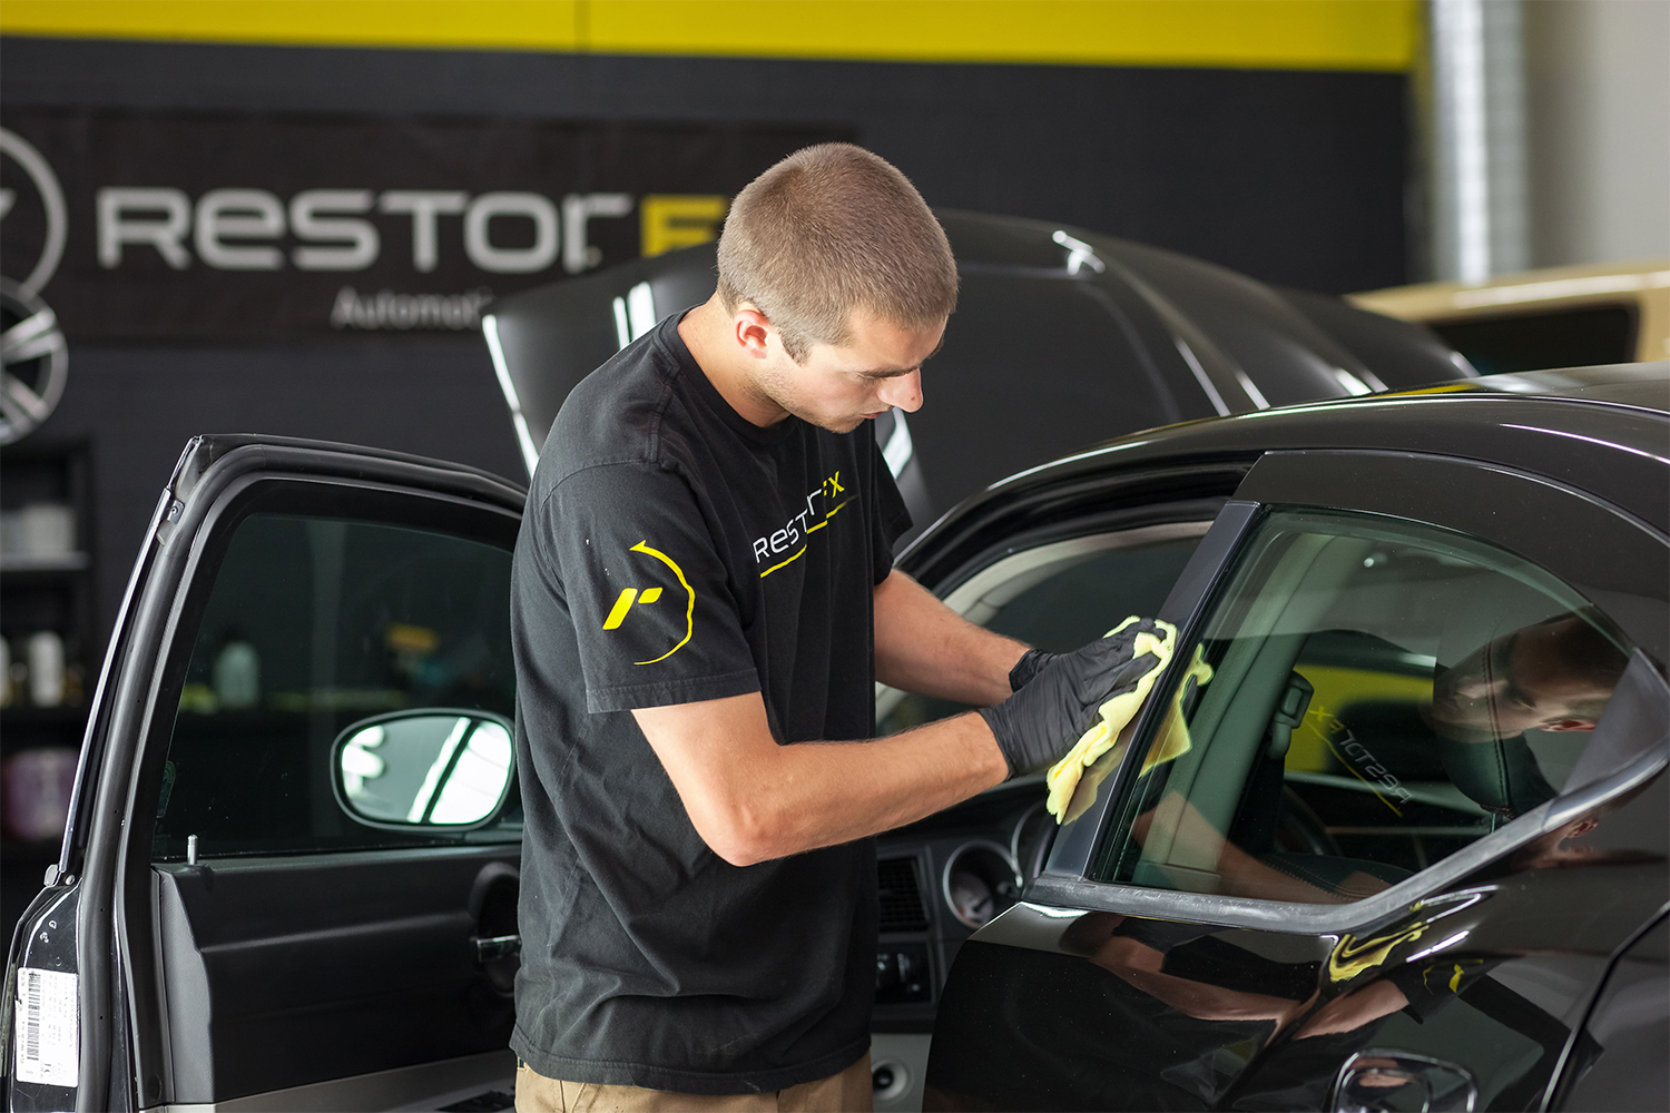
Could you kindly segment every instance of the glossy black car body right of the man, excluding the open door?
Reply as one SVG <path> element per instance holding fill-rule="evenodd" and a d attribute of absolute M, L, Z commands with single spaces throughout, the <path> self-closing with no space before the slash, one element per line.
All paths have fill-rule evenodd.
<path fill-rule="evenodd" d="M 989 919 L 927 1108 L 1670 1108 L 1667 375 L 1196 422 L 903 554 L 1047 649 L 1179 629 L 1070 823 L 1007 789 L 895 843 Z"/>

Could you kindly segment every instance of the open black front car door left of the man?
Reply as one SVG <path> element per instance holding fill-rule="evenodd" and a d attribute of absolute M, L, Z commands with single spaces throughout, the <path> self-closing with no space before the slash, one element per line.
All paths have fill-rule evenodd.
<path fill-rule="evenodd" d="M 10 1108 L 506 1108 L 523 497 L 347 446 L 187 447 L 13 944 Z"/>

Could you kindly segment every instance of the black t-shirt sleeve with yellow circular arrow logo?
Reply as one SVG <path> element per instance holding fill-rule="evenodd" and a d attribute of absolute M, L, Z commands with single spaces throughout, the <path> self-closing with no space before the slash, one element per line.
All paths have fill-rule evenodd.
<path fill-rule="evenodd" d="M 543 521 L 586 711 L 760 691 L 725 566 L 683 477 L 655 464 L 588 467 L 558 484 Z"/>

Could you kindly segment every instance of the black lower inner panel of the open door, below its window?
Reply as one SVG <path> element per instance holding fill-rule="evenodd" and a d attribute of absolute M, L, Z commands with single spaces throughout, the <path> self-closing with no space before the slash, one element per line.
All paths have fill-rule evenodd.
<path fill-rule="evenodd" d="M 174 1103 L 503 1050 L 469 894 L 518 849 L 157 866 Z"/>

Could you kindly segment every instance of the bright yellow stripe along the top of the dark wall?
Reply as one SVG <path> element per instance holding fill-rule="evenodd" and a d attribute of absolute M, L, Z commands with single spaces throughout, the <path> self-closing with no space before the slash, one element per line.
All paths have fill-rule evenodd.
<path fill-rule="evenodd" d="M 5 0 L 8 35 L 1406 70 L 1420 0 Z"/>

